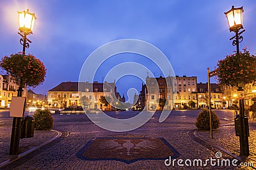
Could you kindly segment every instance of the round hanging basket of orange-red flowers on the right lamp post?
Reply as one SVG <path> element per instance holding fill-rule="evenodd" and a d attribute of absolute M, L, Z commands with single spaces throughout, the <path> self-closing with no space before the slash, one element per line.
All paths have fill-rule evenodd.
<path fill-rule="evenodd" d="M 221 85 L 235 87 L 256 80 L 256 57 L 246 48 L 243 50 L 244 52 L 228 55 L 225 59 L 218 61 L 216 80 Z"/>

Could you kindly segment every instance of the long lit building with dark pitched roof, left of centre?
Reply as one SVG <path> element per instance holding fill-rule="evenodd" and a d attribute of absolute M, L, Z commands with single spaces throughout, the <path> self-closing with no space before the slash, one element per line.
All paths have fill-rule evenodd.
<path fill-rule="evenodd" d="M 79 89 L 78 85 L 80 86 Z M 111 106 L 114 105 L 116 96 L 120 95 L 116 92 L 115 83 L 94 81 L 93 83 L 78 84 L 78 82 L 67 81 L 48 91 L 48 103 L 49 108 L 77 108 L 83 106 L 83 108 L 90 110 L 112 110 Z M 102 103 L 102 97 L 108 99 L 108 106 Z"/>

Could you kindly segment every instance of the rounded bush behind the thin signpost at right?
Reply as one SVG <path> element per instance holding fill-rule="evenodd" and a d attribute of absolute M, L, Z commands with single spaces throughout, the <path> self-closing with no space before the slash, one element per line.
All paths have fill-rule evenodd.
<path fill-rule="evenodd" d="M 211 111 L 212 115 L 212 129 L 220 127 L 220 118 L 214 111 Z M 209 110 L 203 110 L 198 114 L 196 118 L 196 127 L 200 130 L 210 130 L 210 115 Z"/>

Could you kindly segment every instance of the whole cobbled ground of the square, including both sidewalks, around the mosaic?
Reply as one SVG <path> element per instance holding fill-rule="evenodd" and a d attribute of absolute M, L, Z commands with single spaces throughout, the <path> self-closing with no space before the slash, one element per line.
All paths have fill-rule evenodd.
<path fill-rule="evenodd" d="M 229 114 L 233 113 L 220 112 Z M 8 155 L 10 149 L 10 132 L 12 120 L 1 119 L 0 122 L 0 163 L 13 156 Z M 209 139 L 209 132 L 196 131 L 194 119 L 186 113 L 175 112 L 164 121 L 157 122 L 159 115 L 153 117 L 147 124 L 130 132 L 109 132 L 92 122 L 85 115 L 54 115 L 54 129 L 61 131 L 60 138 L 42 146 L 21 159 L 12 162 L 2 169 L 253 169 L 253 167 L 227 167 L 227 166 L 166 166 L 164 160 L 137 160 L 131 164 L 118 160 L 83 160 L 77 157 L 77 153 L 86 143 L 96 138 L 164 138 L 180 156 L 177 159 L 216 159 L 216 153 L 221 153 L 221 158 L 234 160 L 239 155 L 239 139 L 234 136 L 234 124 L 232 120 L 221 120 L 221 127 L 214 131 L 214 139 Z M 81 122 L 79 122 L 79 120 Z M 233 125 L 232 125 L 233 124 Z M 255 122 L 250 123 L 250 157 L 248 162 L 255 161 Z M 9 133 L 9 134 L 8 134 Z M 2 134 L 4 136 L 2 137 Z M 54 131 L 35 131 L 34 138 L 20 140 L 20 153 L 34 146 L 41 145 L 58 135 Z M 23 141 L 22 141 L 23 140 Z M 237 146 L 238 144 L 238 146 Z M 3 152 L 2 152 L 3 150 Z M 161 148 L 159 148 L 161 150 Z M 100 152 L 100 151 L 99 151 Z M 229 154 L 233 153 L 233 154 Z M 237 157 L 237 159 L 239 159 Z M 209 163 L 209 162 L 208 162 Z M 184 164 L 184 162 L 183 162 Z"/>

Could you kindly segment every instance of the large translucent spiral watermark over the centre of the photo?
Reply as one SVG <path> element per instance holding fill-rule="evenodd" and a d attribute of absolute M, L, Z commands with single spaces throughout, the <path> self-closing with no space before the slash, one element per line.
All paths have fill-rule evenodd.
<path fill-rule="evenodd" d="M 175 73 L 169 60 L 164 55 L 164 53 L 159 50 L 159 48 L 138 39 L 120 39 L 116 41 L 111 41 L 109 43 L 106 43 L 105 45 L 100 46 L 87 57 L 83 64 L 83 67 L 81 68 L 78 84 L 79 99 L 81 101 L 83 109 L 88 111 L 88 108 L 92 106 L 92 108 L 97 108 L 97 106 L 99 106 L 99 103 L 97 103 L 99 101 L 99 98 L 95 99 L 97 93 L 94 90 L 96 89 L 95 85 L 93 85 L 93 81 L 95 80 L 95 74 L 97 73 L 97 71 L 99 71 L 99 67 L 104 62 L 106 62 L 106 60 L 113 57 L 114 55 L 122 53 L 134 53 L 143 56 L 147 60 L 149 59 L 150 62 L 153 62 L 161 70 L 161 73 L 163 73 L 162 76 L 164 78 L 164 82 L 166 83 L 166 90 L 168 89 L 168 101 L 165 103 L 165 107 L 159 118 L 159 122 L 163 122 L 168 117 L 168 115 L 170 115 L 170 112 L 172 111 L 175 102 L 175 96 L 172 90 L 172 86 L 175 80 Z M 146 71 L 147 75 L 145 75 Z M 140 78 L 140 80 L 143 80 L 143 83 L 147 85 L 147 88 L 149 88 L 148 85 L 154 85 L 154 89 L 156 89 L 154 92 L 155 97 L 147 96 L 147 103 L 145 103 L 144 110 L 142 110 L 140 114 L 132 118 L 117 119 L 109 117 L 103 111 L 100 111 L 101 114 L 87 114 L 88 118 L 90 118 L 90 120 L 92 120 L 94 124 L 102 127 L 103 129 L 115 132 L 132 131 L 150 120 L 150 118 L 156 111 L 157 106 L 159 105 L 160 94 L 159 90 L 157 90 L 159 89 L 159 86 L 154 74 L 151 71 L 151 68 L 147 66 L 147 63 L 140 64 L 133 61 L 117 64 L 116 66 L 112 67 L 104 77 L 104 96 L 113 108 L 125 110 L 130 108 L 131 105 L 128 106 L 127 103 L 122 103 L 120 102 L 120 100 L 116 99 L 115 83 L 111 83 L 107 80 L 118 81 L 120 78 L 127 75 Z M 88 80 L 88 78 L 90 78 L 90 80 Z M 144 81 L 145 78 L 147 82 Z M 134 90 L 134 88 L 129 90 Z M 137 91 L 136 94 L 139 94 L 139 92 Z M 132 95 L 134 95 L 134 93 Z M 128 97 L 133 99 L 134 96 Z M 132 105 L 134 104 L 135 103 L 132 103 Z"/>

